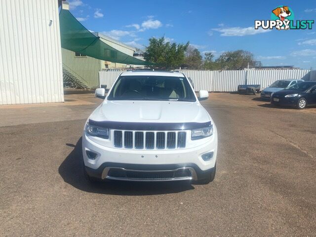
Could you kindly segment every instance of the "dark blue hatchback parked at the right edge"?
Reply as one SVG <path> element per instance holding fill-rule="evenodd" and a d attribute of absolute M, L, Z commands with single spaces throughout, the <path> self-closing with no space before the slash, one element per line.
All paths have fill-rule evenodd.
<path fill-rule="evenodd" d="M 316 81 L 303 81 L 272 94 L 271 103 L 304 109 L 316 105 Z"/>

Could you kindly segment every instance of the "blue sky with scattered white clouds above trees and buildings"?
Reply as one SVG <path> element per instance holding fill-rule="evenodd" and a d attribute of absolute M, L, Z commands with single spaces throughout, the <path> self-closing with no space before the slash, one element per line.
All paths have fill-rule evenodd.
<path fill-rule="evenodd" d="M 295 20 L 316 20 L 315 0 L 70 0 L 70 11 L 87 29 L 134 47 L 165 36 L 215 56 L 243 49 L 264 66 L 316 69 L 316 24 L 312 30 L 254 30 L 254 21 L 270 20 L 277 5 L 289 6 Z"/>

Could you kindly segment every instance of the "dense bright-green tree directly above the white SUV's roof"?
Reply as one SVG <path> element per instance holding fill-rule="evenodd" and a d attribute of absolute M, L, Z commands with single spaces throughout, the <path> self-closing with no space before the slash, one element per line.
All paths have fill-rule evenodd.
<path fill-rule="evenodd" d="M 185 51 L 188 47 L 189 42 L 176 44 L 166 42 L 164 37 L 159 39 L 152 37 L 144 52 L 144 59 L 157 64 L 162 69 L 175 69 L 184 63 Z"/>

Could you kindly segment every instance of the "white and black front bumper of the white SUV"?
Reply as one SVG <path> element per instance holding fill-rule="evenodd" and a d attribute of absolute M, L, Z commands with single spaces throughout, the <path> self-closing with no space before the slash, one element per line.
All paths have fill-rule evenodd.
<path fill-rule="evenodd" d="M 87 174 L 100 179 L 198 180 L 205 178 L 215 166 L 217 156 L 216 127 L 211 137 L 200 139 L 200 142 L 200 145 L 194 148 L 174 150 L 118 149 L 95 143 L 83 133 L 82 155 Z M 95 159 L 88 158 L 86 151 L 96 153 L 97 157 Z M 210 160 L 202 159 L 203 154 L 211 152 L 213 157 Z M 119 170 L 123 174 L 110 175 L 109 172 L 113 170 Z M 135 174 L 137 171 L 139 173 Z M 182 171 L 187 173 L 181 173 Z M 149 174 L 149 172 L 152 173 Z M 179 172 L 181 175 L 177 175 Z M 155 176 L 156 174 L 158 178 Z M 142 179 L 141 177 L 144 176 L 146 178 Z"/>

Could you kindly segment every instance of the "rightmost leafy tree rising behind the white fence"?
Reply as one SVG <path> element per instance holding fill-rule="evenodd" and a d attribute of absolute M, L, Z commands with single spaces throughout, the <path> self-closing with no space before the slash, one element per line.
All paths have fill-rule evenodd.
<path fill-rule="evenodd" d="M 241 70 L 254 62 L 254 56 L 251 52 L 245 50 L 223 52 L 215 60 L 221 70 Z"/>

